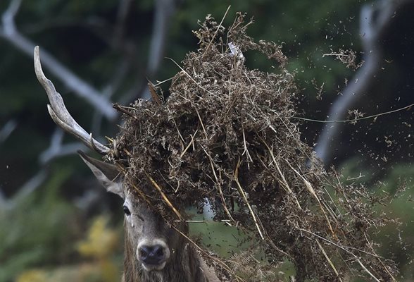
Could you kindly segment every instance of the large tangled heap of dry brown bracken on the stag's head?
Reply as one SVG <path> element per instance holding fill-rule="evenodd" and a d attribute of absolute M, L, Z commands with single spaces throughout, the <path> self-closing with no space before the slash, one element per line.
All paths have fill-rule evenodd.
<path fill-rule="evenodd" d="M 301 142 L 287 59 L 280 45 L 246 35 L 250 24 L 238 14 L 226 31 L 207 16 L 194 32 L 199 49 L 177 65 L 170 97 L 122 107 L 125 124 L 108 159 L 171 224 L 184 219 L 182 207 L 208 199 L 215 219 L 254 238 L 270 265 L 292 262 L 296 281 L 392 281 L 394 264 L 375 255 L 370 240 L 369 229 L 384 221 L 373 200 L 341 185 Z M 276 73 L 247 68 L 243 54 L 251 50 L 274 60 Z M 242 278 L 228 267 L 234 262 L 211 258 L 229 281 L 265 279 L 265 264 Z"/>

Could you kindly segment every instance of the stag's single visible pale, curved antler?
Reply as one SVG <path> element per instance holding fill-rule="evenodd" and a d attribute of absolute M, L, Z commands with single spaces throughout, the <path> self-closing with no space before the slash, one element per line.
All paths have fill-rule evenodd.
<path fill-rule="evenodd" d="M 80 141 L 87 145 L 89 148 L 99 152 L 99 154 L 108 154 L 109 148 L 102 145 L 92 137 L 92 133 L 88 134 L 76 121 L 70 116 L 68 109 L 66 109 L 65 103 L 61 94 L 56 91 L 54 84 L 46 78 L 42 71 L 42 64 L 40 63 L 39 46 L 35 47 L 35 73 L 37 80 L 46 91 L 47 97 L 49 97 L 50 104 L 47 104 L 47 109 L 54 122 L 67 133 L 77 137 Z"/>

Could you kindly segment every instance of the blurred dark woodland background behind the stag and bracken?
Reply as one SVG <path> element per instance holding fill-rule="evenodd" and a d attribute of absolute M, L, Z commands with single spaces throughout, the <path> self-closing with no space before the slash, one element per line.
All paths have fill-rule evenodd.
<path fill-rule="evenodd" d="M 112 103 L 149 99 L 147 78 L 180 71 L 165 57 L 196 50 L 198 20 L 220 22 L 229 5 L 225 27 L 246 12 L 251 37 L 282 44 L 303 141 L 344 182 L 391 196 L 375 207 L 399 219 L 378 235 L 380 253 L 414 281 L 414 1 L 392 0 L 0 1 L 0 281 L 119 281 L 122 271 L 122 203 L 51 121 L 35 45 L 71 114 L 105 142 L 120 123 Z M 244 55 L 250 68 L 274 67 Z"/>

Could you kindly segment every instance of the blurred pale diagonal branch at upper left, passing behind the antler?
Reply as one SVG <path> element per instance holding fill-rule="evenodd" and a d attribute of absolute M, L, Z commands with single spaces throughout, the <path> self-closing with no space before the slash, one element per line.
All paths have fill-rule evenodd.
<path fill-rule="evenodd" d="M 20 51 L 27 54 L 27 56 L 32 56 L 32 51 L 35 48 L 35 43 L 27 39 L 18 32 L 15 27 L 14 17 L 20 8 L 21 0 L 13 0 L 8 6 L 8 9 L 4 12 L 1 17 L 3 25 L 0 27 L 0 36 L 8 40 L 11 44 L 17 47 Z M 102 97 L 101 92 L 94 89 L 91 85 L 87 84 L 75 74 L 65 68 L 61 63 L 59 63 L 53 56 L 45 53 L 43 55 L 44 66 L 49 68 L 49 70 L 56 75 L 56 77 L 61 80 L 66 87 L 75 92 L 78 96 L 84 98 L 92 104 L 94 108 L 98 111 L 101 111 L 108 120 L 113 121 L 117 114 L 112 109 L 112 103 Z"/>

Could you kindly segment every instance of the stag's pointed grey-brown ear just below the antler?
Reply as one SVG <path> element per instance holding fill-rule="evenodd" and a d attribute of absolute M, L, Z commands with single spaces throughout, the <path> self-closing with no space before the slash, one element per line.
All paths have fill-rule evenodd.
<path fill-rule="evenodd" d="M 114 194 L 125 198 L 122 187 L 123 179 L 121 178 L 120 172 L 116 166 L 97 159 L 92 159 L 80 150 L 77 151 L 77 154 L 79 154 L 84 163 L 89 166 L 96 178 L 108 192 L 113 192 Z"/>

